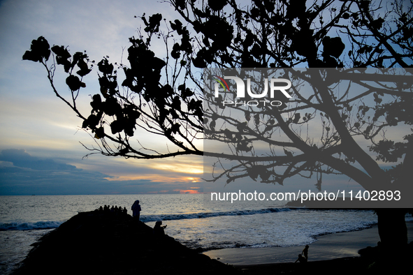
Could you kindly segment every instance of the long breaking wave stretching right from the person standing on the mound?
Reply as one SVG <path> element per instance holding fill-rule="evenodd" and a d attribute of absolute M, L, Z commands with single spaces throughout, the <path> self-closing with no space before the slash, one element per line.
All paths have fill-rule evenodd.
<path fill-rule="evenodd" d="M 183 220 L 188 218 L 211 218 L 217 216 L 243 216 L 243 215 L 255 215 L 276 213 L 282 211 L 291 211 L 289 208 L 266 208 L 266 209 L 249 209 L 249 210 L 233 210 L 233 211 L 220 211 L 220 212 L 200 212 L 190 214 L 160 214 L 160 215 L 141 215 L 140 221 L 144 223 L 150 221 L 173 221 Z"/>

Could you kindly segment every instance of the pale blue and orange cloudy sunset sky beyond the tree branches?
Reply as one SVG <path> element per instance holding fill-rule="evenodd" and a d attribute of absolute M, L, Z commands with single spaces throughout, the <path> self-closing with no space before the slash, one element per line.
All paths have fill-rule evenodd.
<path fill-rule="evenodd" d="M 119 63 L 126 59 L 129 38 L 138 35 L 143 13 L 161 13 L 166 22 L 176 18 L 174 9 L 159 1 L 0 0 L 0 195 L 203 192 L 201 156 L 157 161 L 99 154 L 84 158 L 90 152 L 82 144 L 92 147 L 94 139 L 82 130 L 82 120 L 55 96 L 41 64 L 22 61 L 31 40 L 44 36 L 50 45 L 68 45 L 72 54 L 87 50 L 91 60 L 109 56 Z M 152 46 L 162 56 L 162 43 Z M 94 70 L 84 78 L 80 109 L 90 110 L 90 96 L 99 93 L 96 76 Z M 63 77 L 57 73 L 55 79 L 62 94 L 69 92 Z M 145 147 L 165 146 L 164 140 L 147 133 L 137 135 Z M 302 184 L 315 191 L 316 181 L 294 178 L 273 186 L 248 179 L 227 186 L 221 181 L 215 187 L 290 192 Z M 327 190 L 358 186 L 345 176 L 326 177 L 324 182 Z"/>

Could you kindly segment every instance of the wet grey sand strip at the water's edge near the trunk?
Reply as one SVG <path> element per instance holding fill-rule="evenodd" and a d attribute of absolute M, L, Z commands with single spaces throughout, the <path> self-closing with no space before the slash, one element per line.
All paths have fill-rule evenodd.
<path fill-rule="evenodd" d="M 407 222 L 409 242 L 413 241 L 413 222 Z M 354 232 L 342 232 L 317 237 L 308 250 L 309 262 L 358 257 L 358 250 L 376 246 L 377 226 Z M 304 246 L 270 248 L 226 248 L 204 254 L 237 267 L 295 262 Z"/>

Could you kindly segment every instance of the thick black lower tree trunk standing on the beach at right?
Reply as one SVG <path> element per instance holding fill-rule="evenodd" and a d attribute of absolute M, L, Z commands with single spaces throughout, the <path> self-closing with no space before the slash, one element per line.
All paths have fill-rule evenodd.
<path fill-rule="evenodd" d="M 405 209 L 378 209 L 377 225 L 383 248 L 403 248 L 407 244 Z"/>

